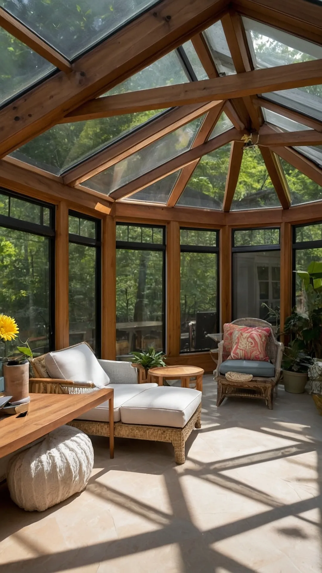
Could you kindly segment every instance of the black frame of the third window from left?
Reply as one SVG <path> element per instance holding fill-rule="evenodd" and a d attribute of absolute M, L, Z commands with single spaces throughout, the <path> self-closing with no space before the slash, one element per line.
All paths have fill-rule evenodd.
<path fill-rule="evenodd" d="M 166 226 L 165 225 L 149 225 L 148 223 L 126 223 L 124 221 L 116 221 L 117 226 L 123 227 L 144 227 L 148 229 L 162 229 L 162 243 L 146 243 L 138 241 L 117 241 L 116 249 L 127 250 L 153 250 L 163 253 L 162 256 L 162 352 L 166 352 L 166 332 L 167 332 L 167 313 L 166 313 Z M 117 340 L 116 340 L 117 342 Z M 117 357 L 116 357 L 117 358 Z"/>

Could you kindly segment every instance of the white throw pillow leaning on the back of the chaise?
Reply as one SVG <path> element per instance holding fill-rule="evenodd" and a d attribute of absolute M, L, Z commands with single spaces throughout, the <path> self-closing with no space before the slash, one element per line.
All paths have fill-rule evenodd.
<path fill-rule="evenodd" d="M 94 352 L 85 343 L 64 350 L 49 352 L 45 356 L 46 368 L 52 378 L 78 382 L 93 382 L 96 386 L 107 386 L 109 377 L 104 372 Z"/>

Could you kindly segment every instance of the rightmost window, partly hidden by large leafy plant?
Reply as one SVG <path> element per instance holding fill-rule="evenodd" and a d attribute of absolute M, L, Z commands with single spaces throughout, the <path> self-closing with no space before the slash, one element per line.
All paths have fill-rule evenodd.
<path fill-rule="evenodd" d="M 311 262 L 322 262 L 322 223 L 293 227 L 293 271 L 308 270 Z M 305 312 L 303 282 L 293 272 L 292 303 L 299 312 Z"/>

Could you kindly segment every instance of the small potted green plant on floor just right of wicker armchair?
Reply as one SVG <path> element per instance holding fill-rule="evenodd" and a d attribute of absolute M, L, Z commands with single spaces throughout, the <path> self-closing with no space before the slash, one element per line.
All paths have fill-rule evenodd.
<path fill-rule="evenodd" d="M 283 380 L 286 392 L 303 394 L 308 381 L 308 370 L 313 359 L 303 340 L 296 338 L 286 346 L 282 359 Z"/>

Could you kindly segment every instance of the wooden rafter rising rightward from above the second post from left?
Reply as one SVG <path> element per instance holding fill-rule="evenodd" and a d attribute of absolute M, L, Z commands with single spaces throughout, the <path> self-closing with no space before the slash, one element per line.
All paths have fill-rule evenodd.
<path fill-rule="evenodd" d="M 201 158 L 202 155 L 206 155 L 207 153 L 210 153 L 210 151 L 214 151 L 215 149 L 218 149 L 218 147 L 222 147 L 232 140 L 240 140 L 244 133 L 245 132 L 238 131 L 238 129 L 235 128 L 229 129 L 229 131 L 226 131 L 224 134 L 218 135 L 217 138 L 210 139 L 210 141 L 182 153 L 178 157 L 163 163 L 160 167 L 156 167 L 155 169 L 148 171 L 137 179 L 133 179 L 130 183 L 127 183 L 127 185 L 113 191 L 110 197 L 115 200 L 129 197 L 133 193 L 136 193 L 136 191 L 140 191 L 141 189 L 144 189 L 144 187 L 152 185 L 152 183 L 159 181 L 159 179 L 163 179 L 182 167 L 186 167 L 187 165 L 190 165 L 190 163 L 194 163 L 195 160 Z"/>

